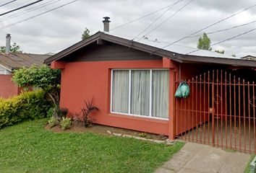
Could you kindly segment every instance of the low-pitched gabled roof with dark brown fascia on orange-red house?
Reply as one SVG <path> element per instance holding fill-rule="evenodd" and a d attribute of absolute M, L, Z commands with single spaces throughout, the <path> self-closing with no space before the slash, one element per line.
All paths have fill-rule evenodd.
<path fill-rule="evenodd" d="M 95 42 L 107 41 L 123 45 L 128 48 L 134 48 L 146 53 L 153 54 L 155 56 L 162 56 L 170 58 L 173 61 L 179 63 L 220 63 L 231 66 L 250 66 L 256 67 L 256 61 L 244 60 L 241 58 L 234 58 L 226 56 L 221 53 L 215 53 L 208 50 L 197 50 L 195 48 L 184 47 L 182 45 L 173 45 L 172 47 L 164 48 L 163 44 L 158 42 L 149 42 L 148 40 L 142 39 L 140 41 L 130 40 L 127 37 L 113 35 L 106 32 L 97 32 L 86 40 L 82 40 L 69 48 L 62 50 L 60 53 L 47 58 L 45 63 L 49 64 L 52 61 L 58 61 L 61 58 L 65 58 L 70 54 L 85 48 L 87 45 Z M 196 50 L 196 51 L 194 51 Z M 190 52 L 190 53 L 189 53 Z M 195 52 L 195 53 L 194 53 Z"/>

